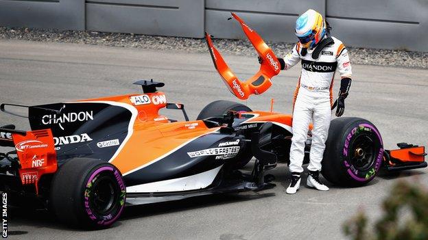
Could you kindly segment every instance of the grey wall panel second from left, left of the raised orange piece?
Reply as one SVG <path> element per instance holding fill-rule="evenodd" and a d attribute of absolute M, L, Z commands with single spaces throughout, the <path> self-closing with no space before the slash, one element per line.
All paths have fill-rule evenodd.
<path fill-rule="evenodd" d="M 203 0 L 86 1 L 88 30 L 202 38 L 203 19 Z"/>

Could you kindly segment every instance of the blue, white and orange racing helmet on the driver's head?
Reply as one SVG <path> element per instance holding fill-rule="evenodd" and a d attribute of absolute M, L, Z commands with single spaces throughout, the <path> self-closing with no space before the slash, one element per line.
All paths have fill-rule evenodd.
<path fill-rule="evenodd" d="M 313 49 L 326 34 L 326 23 L 316 10 L 307 10 L 296 21 L 296 36 L 303 48 Z"/>

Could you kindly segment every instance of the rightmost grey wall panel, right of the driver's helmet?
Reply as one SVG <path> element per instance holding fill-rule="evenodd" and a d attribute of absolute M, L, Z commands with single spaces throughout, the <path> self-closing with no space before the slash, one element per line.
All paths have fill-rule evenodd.
<path fill-rule="evenodd" d="M 428 51 L 427 0 L 327 0 L 326 16 L 350 46 Z"/>

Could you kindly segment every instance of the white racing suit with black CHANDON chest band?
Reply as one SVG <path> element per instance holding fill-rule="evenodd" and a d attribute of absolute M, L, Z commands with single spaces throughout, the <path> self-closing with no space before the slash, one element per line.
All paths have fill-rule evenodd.
<path fill-rule="evenodd" d="M 331 38 L 334 43 L 325 46 L 318 59 L 312 58 L 313 49 L 307 49 L 306 55 L 302 55 L 299 42 L 294 46 L 293 51 L 284 58 L 285 70 L 296 65 L 300 60 L 302 62 L 302 73 L 296 92 L 294 92 L 290 172 L 303 172 L 305 142 L 311 120 L 313 120 L 313 129 L 308 170 L 321 170 L 331 120 L 335 70 L 338 68 L 342 79 L 351 78 L 352 75 L 348 51 L 340 40 Z"/>

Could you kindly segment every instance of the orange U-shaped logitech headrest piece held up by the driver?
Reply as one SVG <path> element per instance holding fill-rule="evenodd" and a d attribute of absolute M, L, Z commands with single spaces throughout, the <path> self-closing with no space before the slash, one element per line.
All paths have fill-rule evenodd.
<path fill-rule="evenodd" d="M 248 27 L 248 25 L 246 25 L 246 23 L 244 23 L 237 14 L 234 14 L 233 12 L 231 14 L 233 18 L 241 24 L 244 34 L 246 34 L 252 46 L 254 46 L 261 59 L 263 59 L 259 71 L 254 76 L 247 81 L 239 81 L 226 62 L 224 62 L 222 55 L 220 55 L 219 51 L 217 51 L 213 46 L 211 36 L 208 33 L 205 33 L 205 39 L 208 44 L 211 57 L 213 58 L 215 69 L 217 69 L 220 76 L 222 76 L 222 79 L 228 86 L 229 91 L 237 96 L 237 98 L 245 100 L 251 94 L 259 95 L 268 90 L 272 85 L 272 81 L 270 79 L 275 75 L 278 75 L 281 70 L 281 65 L 272 49 L 265 44 L 259 34 L 257 34 L 254 29 Z"/>

